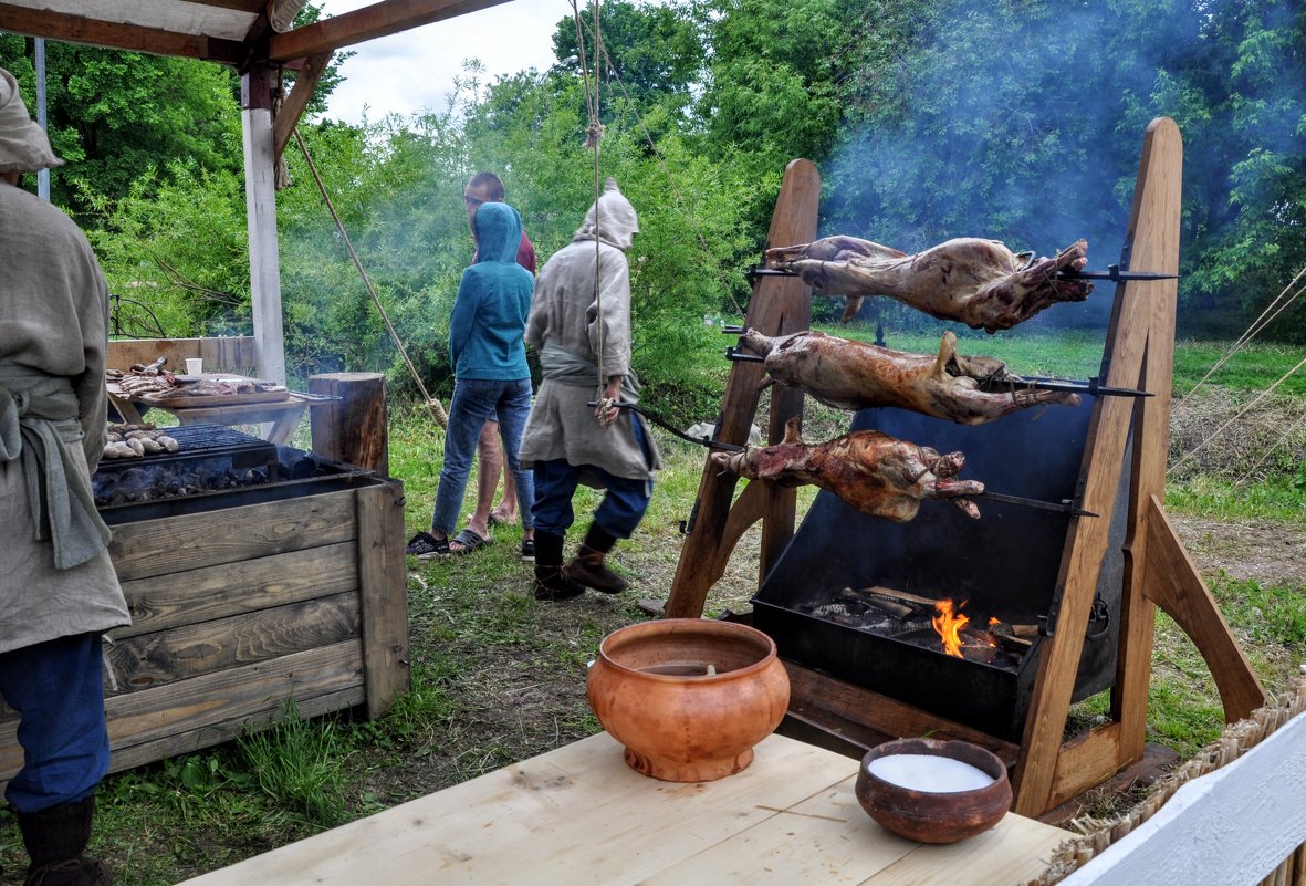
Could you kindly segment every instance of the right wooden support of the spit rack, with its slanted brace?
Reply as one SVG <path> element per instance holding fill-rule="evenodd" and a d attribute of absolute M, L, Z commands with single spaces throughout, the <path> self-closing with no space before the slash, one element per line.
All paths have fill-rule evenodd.
<path fill-rule="evenodd" d="M 1177 273 L 1183 144 L 1173 120 L 1148 127 L 1122 264 L 1126 269 Z M 1147 727 L 1155 606 L 1175 615 L 1211 664 L 1225 704 L 1237 720 L 1266 695 L 1229 632 L 1191 559 L 1165 519 L 1165 464 L 1174 363 L 1175 280 L 1118 284 L 1106 333 L 1106 384 L 1139 387 L 1138 402 L 1098 399 L 1084 448 L 1083 507 L 1114 511 L 1122 470 L 1128 472 L 1128 529 L 1111 720 L 1063 745 L 1075 677 L 1097 589 L 1110 521 L 1076 517 L 1067 533 L 1054 601 L 1055 632 L 1042 649 L 1029 716 L 1016 763 L 1015 812 L 1038 815 L 1140 759 Z M 1126 463 L 1126 442 L 1132 459 Z"/>

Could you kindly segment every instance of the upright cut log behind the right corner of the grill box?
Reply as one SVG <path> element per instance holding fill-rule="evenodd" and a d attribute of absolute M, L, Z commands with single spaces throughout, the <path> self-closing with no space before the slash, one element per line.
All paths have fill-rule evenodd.
<path fill-rule="evenodd" d="M 313 452 L 388 477 L 385 376 L 380 372 L 310 375 L 308 392 L 341 397 L 312 409 Z"/>

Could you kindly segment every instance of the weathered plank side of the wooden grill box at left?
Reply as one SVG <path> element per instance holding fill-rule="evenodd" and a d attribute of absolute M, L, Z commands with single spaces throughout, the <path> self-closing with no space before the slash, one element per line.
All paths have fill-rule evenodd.
<path fill-rule="evenodd" d="M 110 771 L 227 741 L 281 717 L 366 706 L 409 683 L 402 484 L 114 527 L 133 623 L 110 634 Z M 22 764 L 0 712 L 0 783 Z"/>

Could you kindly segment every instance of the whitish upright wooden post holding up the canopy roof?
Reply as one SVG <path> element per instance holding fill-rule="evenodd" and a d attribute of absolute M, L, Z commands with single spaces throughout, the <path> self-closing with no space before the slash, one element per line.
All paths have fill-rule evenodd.
<path fill-rule="evenodd" d="M 281 318 L 281 256 L 277 251 L 277 163 L 272 137 L 274 69 L 255 65 L 240 80 L 244 131 L 246 225 L 249 230 L 249 289 L 257 375 L 286 383 L 286 350 Z"/>

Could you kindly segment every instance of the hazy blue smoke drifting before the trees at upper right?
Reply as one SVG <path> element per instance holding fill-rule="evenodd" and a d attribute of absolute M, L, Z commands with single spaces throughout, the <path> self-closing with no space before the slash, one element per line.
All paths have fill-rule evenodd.
<path fill-rule="evenodd" d="M 1186 269 L 1233 237 L 1252 201 L 1299 231 L 1299 200 L 1294 214 L 1290 199 L 1266 193 L 1303 169 L 1294 14 L 1234 0 L 944 3 L 891 80 L 852 108 L 827 163 L 823 234 L 908 252 L 987 237 L 1040 255 L 1083 237 L 1088 267 L 1105 268 L 1121 261 L 1157 116 L 1174 118 L 1185 137 Z M 1100 285 L 1030 325 L 1105 323 L 1110 295 Z"/>

